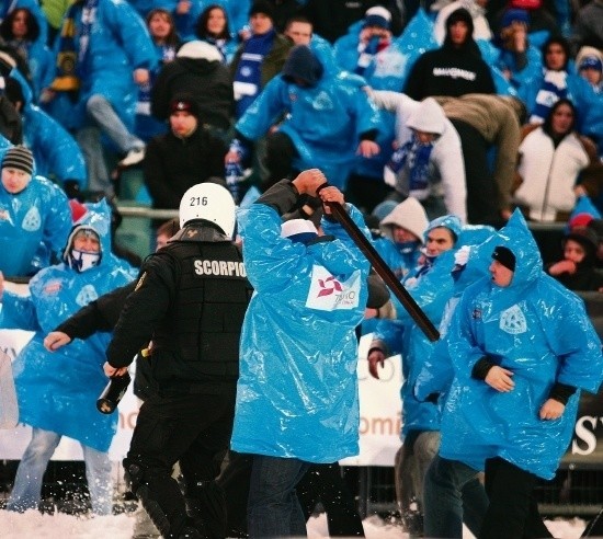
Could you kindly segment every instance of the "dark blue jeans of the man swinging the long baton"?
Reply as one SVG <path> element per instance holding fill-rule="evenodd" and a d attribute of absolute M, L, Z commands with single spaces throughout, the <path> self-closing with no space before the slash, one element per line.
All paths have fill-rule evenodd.
<path fill-rule="evenodd" d="M 247 505 L 249 537 L 306 537 L 295 486 L 310 468 L 295 458 L 253 456 Z"/>

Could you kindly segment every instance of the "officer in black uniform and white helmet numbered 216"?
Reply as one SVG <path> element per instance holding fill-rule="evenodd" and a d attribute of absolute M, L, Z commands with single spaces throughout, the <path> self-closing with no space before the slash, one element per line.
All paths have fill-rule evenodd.
<path fill-rule="evenodd" d="M 224 494 L 213 481 L 228 448 L 239 375 L 239 335 L 251 285 L 232 243 L 235 203 L 217 184 L 191 187 L 181 230 L 144 263 L 104 365 L 125 372 L 152 341 L 159 391 L 138 415 L 126 480 L 163 537 L 226 536 Z M 171 478 L 179 461 L 183 495 Z M 185 508 L 196 506 L 187 516 Z"/>

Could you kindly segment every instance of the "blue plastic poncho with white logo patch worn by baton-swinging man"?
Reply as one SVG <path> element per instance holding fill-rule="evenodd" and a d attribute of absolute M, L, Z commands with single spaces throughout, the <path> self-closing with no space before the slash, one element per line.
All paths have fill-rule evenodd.
<path fill-rule="evenodd" d="M 352 219 L 368 238 L 362 216 Z M 306 246 L 281 238 L 278 214 L 239 211 L 248 278 L 255 289 L 241 334 L 231 447 L 334 462 L 359 452 L 357 341 L 369 264 L 342 227 Z"/>

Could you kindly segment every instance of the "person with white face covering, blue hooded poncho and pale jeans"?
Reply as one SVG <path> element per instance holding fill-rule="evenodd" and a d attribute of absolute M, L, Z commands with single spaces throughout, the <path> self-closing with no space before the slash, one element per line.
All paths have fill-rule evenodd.
<path fill-rule="evenodd" d="M 81 307 L 129 283 L 136 272 L 111 252 L 111 210 L 105 200 L 88 206 L 69 234 L 64 262 L 30 282 L 30 296 L 3 291 L 2 310 L 14 328 L 35 331 L 13 369 L 19 422 L 33 427 L 32 441 L 19 466 L 7 508 L 23 512 L 39 502 L 42 478 L 62 436 L 81 444 L 92 511 L 110 515 L 113 481 L 109 447 L 117 415 L 99 413 L 95 401 L 106 385 L 102 366 L 109 333 L 50 354 L 44 335 Z"/>

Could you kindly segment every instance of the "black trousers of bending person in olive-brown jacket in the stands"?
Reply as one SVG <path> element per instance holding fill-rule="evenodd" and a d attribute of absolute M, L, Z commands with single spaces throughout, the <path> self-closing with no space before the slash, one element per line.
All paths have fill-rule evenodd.
<path fill-rule="evenodd" d="M 499 188 L 488 163 L 489 145 L 471 125 L 451 118 L 458 131 L 465 162 L 467 218 L 471 225 L 500 223 Z"/>

